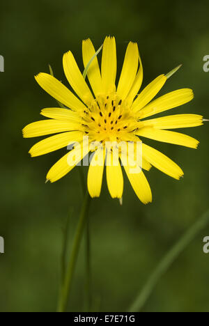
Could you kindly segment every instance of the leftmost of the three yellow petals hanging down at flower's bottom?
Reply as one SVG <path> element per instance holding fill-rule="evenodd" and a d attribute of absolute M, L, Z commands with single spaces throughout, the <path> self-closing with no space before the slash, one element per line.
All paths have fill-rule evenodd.
<path fill-rule="evenodd" d="M 102 176 L 104 171 L 105 153 L 103 148 L 98 148 L 93 154 L 91 164 L 88 169 L 88 192 L 92 198 L 99 197 L 102 188 Z"/>

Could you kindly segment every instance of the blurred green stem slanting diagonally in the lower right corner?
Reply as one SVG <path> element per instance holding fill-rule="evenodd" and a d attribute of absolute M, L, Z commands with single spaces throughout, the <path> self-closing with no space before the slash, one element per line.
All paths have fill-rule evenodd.
<path fill-rule="evenodd" d="M 173 261 L 178 258 L 179 254 L 187 247 L 187 245 L 195 238 L 195 236 L 207 226 L 209 223 L 209 210 L 202 215 L 194 225 L 189 228 L 188 231 L 180 238 L 180 240 L 171 248 L 171 250 L 162 258 L 157 268 L 154 270 L 153 274 L 150 275 L 150 278 L 146 282 L 144 288 L 137 296 L 137 299 L 134 300 L 130 309 L 128 311 L 135 312 L 141 311 L 144 304 L 148 300 L 148 297 L 153 292 L 153 288 L 157 284 L 157 281 L 162 277 L 162 275 L 167 272 Z"/>

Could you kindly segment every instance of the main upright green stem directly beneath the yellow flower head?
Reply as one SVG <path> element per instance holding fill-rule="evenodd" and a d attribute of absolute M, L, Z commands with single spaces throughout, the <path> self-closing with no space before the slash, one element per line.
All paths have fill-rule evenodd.
<path fill-rule="evenodd" d="M 72 286 L 72 278 L 75 272 L 75 265 L 77 262 L 77 256 L 79 253 L 79 247 L 82 240 L 82 235 L 84 232 L 84 226 L 86 224 L 86 217 L 88 215 L 88 208 L 90 205 L 91 197 L 89 196 L 88 192 L 86 192 L 86 196 L 84 197 L 84 202 L 82 205 L 82 210 L 79 217 L 79 223 L 77 226 L 77 231 L 75 233 L 75 239 L 72 245 L 72 253 L 70 256 L 70 261 L 66 268 L 65 278 L 63 281 L 63 285 L 61 287 L 61 295 L 59 297 L 59 304 L 58 304 L 58 312 L 65 312 L 68 304 L 68 298 Z"/>

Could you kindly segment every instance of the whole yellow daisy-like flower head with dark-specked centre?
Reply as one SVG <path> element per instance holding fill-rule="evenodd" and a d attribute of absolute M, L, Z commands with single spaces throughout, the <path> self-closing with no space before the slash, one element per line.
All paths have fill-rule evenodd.
<path fill-rule="evenodd" d="M 83 41 L 82 54 L 84 67 L 86 67 L 95 56 L 91 40 Z M 202 125 L 202 116 L 174 114 L 144 120 L 144 118 L 189 102 L 194 97 L 191 89 L 182 88 L 153 100 L 167 81 L 167 75 L 160 75 L 139 93 L 143 68 L 139 49 L 133 42 L 127 45 L 121 76 L 116 86 L 116 42 L 115 38 L 111 37 L 104 40 L 101 70 L 97 56 L 94 57 L 87 70 L 88 81 L 93 92 L 88 87 L 71 52 L 63 56 L 63 69 L 77 96 L 52 75 L 45 73 L 37 75 L 38 84 L 66 108 L 42 109 L 40 114 L 49 119 L 27 125 L 24 127 L 23 135 L 24 137 L 38 137 L 56 134 L 36 143 L 29 151 L 32 157 L 75 143 L 81 144 L 82 156 L 77 155 L 80 148 L 75 146 L 52 166 L 47 173 L 47 180 L 54 183 L 65 176 L 89 151 L 94 152 L 87 180 L 88 192 L 92 197 L 100 196 L 104 157 L 109 162 L 106 164 L 106 174 L 107 186 L 112 198 L 121 199 L 123 195 L 123 173 L 119 162 L 122 163 L 134 192 L 143 203 L 152 201 L 152 194 L 141 169 L 149 170 L 151 166 L 155 166 L 173 178 L 179 179 L 183 176 L 183 171 L 176 163 L 145 143 L 141 145 L 140 162 L 135 162 L 134 159 L 133 162 L 130 160 L 125 162 L 127 154 L 120 150 L 117 164 L 114 162 L 113 150 L 107 149 L 105 143 L 114 142 L 116 147 L 120 142 L 132 143 L 134 155 L 136 155 L 136 144 L 140 141 L 139 137 L 196 148 L 199 143 L 196 139 L 168 129 Z M 104 146 L 87 148 L 84 145 L 84 136 L 88 136 L 90 145 L 97 141 Z M 70 164 L 70 162 L 73 163 Z M 137 173 L 132 173 L 134 167 L 141 169 Z"/>

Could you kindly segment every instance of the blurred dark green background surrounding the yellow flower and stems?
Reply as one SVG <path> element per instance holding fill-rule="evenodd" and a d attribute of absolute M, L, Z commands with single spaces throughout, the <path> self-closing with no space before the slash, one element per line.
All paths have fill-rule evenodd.
<path fill-rule="evenodd" d="M 176 113 L 208 113 L 208 1 L 1 1 L 0 54 L 5 59 L 1 85 L 0 311 L 55 311 L 60 277 L 62 228 L 70 209 L 70 239 L 82 204 L 78 168 L 45 185 L 45 175 L 65 150 L 31 159 L 37 139 L 22 139 L 22 127 L 40 119 L 54 100 L 33 75 L 63 75 L 63 53 L 72 50 L 81 69 L 82 40 L 100 47 L 116 36 L 118 71 L 127 42 L 138 42 L 144 83 L 183 63 L 160 94 L 194 89 L 195 98 Z M 169 113 L 173 114 L 173 111 Z M 160 258 L 208 207 L 208 126 L 185 133 L 200 141 L 198 150 L 147 141 L 183 168 L 180 181 L 156 169 L 146 173 L 153 203 L 143 205 L 125 179 L 123 206 L 110 198 L 106 182 L 91 205 L 93 296 L 100 311 L 126 311 Z M 39 139 L 40 140 L 40 139 Z M 209 254 L 203 237 L 180 254 L 160 279 L 144 311 L 209 311 Z M 70 243 L 69 243 L 70 252 Z M 69 310 L 84 309 L 84 244 L 79 254 Z"/>

